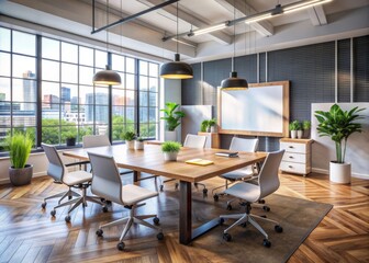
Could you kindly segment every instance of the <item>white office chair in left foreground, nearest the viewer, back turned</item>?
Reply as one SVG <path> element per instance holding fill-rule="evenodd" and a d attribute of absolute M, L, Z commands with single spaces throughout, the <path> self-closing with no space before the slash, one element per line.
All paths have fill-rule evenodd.
<path fill-rule="evenodd" d="M 116 204 L 123 205 L 125 208 L 130 209 L 130 216 L 118 219 L 112 222 L 108 222 L 99 227 L 97 235 L 102 237 L 102 228 L 118 226 L 126 222 L 124 230 L 121 235 L 120 242 L 116 248 L 123 250 L 125 244 L 123 239 L 128 232 L 133 222 L 144 225 L 146 227 L 157 229 L 159 232 L 157 239 L 161 240 L 164 238 L 160 227 L 154 226 L 144 221 L 143 219 L 154 217 L 154 224 L 159 224 L 159 218 L 156 215 L 145 215 L 135 216 L 135 208 L 144 205 L 144 203 L 138 204 L 142 201 L 155 197 L 158 195 L 157 192 L 136 186 L 134 184 L 122 185 L 120 179 L 119 170 L 115 164 L 113 157 L 102 156 L 98 153 L 89 152 L 89 159 L 92 165 L 92 184 L 91 192 L 99 195 L 105 199 L 110 199 Z"/>

